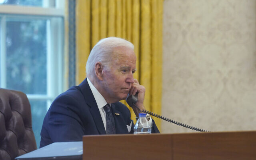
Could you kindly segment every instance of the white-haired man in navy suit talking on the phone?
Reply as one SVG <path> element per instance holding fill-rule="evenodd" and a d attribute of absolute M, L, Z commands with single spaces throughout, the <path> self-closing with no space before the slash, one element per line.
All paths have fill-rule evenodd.
<path fill-rule="evenodd" d="M 88 57 L 87 78 L 60 94 L 50 106 L 40 147 L 53 142 L 82 141 L 83 135 L 133 133 L 130 110 L 119 101 L 138 93 L 136 106 L 144 109 L 145 88 L 133 78 L 135 71 L 132 43 L 116 37 L 100 40 Z M 138 108 L 132 108 L 137 117 Z M 152 133 L 159 132 L 154 120 L 149 120 L 153 123 Z"/>

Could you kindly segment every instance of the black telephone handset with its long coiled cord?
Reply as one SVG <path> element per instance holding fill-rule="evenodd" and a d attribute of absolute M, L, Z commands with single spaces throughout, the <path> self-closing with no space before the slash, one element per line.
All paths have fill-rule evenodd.
<path fill-rule="evenodd" d="M 138 93 L 136 93 L 135 95 L 129 95 L 128 94 L 128 96 L 126 98 L 126 102 L 129 104 L 129 106 L 135 106 L 136 108 L 138 108 L 138 106 L 135 105 L 137 101 L 138 101 Z M 138 108 L 138 110 L 140 110 L 140 109 Z M 202 130 L 200 128 L 196 128 L 196 127 L 193 127 L 193 126 L 188 126 L 186 124 L 177 122 L 175 120 L 171 120 L 171 119 L 166 118 L 164 116 L 157 115 L 157 114 L 155 114 L 153 112 L 149 112 L 148 110 L 140 110 L 140 112 L 144 112 L 144 113 L 150 114 L 151 116 L 155 116 L 155 117 L 160 118 L 162 120 L 168 121 L 168 122 L 173 123 L 173 124 L 177 124 L 177 125 L 185 127 L 185 128 L 189 128 L 191 130 L 196 130 L 196 131 L 199 131 L 199 132 L 209 132 L 207 130 Z"/>

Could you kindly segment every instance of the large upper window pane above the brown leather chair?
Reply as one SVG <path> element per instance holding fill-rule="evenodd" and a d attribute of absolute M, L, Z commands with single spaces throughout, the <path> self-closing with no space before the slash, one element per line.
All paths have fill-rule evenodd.
<path fill-rule="evenodd" d="M 46 94 L 46 20 L 6 22 L 6 86 Z"/>

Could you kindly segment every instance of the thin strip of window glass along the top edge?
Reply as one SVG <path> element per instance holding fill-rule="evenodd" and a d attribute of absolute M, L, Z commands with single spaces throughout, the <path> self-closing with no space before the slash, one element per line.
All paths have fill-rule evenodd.
<path fill-rule="evenodd" d="M 44 0 L 0 0 L 0 4 L 19 6 L 43 6 Z"/>

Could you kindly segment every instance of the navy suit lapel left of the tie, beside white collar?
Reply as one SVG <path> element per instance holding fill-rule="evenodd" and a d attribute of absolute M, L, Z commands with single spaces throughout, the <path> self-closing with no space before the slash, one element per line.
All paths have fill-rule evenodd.
<path fill-rule="evenodd" d="M 87 82 L 87 78 L 79 85 L 82 94 L 84 95 L 84 99 L 86 104 L 90 106 L 90 112 L 100 134 L 106 134 L 106 130 L 104 124 L 102 122 L 102 118 L 100 115 L 99 108 L 97 106 L 96 100 L 92 94 L 92 90 Z"/>

